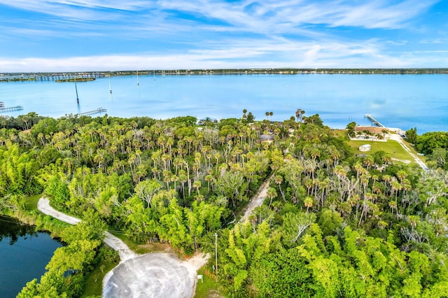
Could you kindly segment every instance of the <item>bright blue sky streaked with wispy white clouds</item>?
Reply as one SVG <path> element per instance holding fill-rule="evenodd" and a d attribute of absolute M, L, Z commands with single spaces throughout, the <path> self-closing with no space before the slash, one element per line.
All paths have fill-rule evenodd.
<path fill-rule="evenodd" d="M 0 0 L 0 72 L 448 67 L 448 0 Z"/>

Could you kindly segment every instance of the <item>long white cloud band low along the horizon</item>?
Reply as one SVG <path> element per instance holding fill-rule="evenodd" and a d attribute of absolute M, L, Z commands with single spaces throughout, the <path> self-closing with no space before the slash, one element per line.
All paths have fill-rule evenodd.
<path fill-rule="evenodd" d="M 241 42 L 241 41 L 240 41 Z M 246 40 L 246 42 L 248 42 Z M 245 43 L 245 42 L 241 42 Z M 125 69 L 228 69 L 228 68 L 369 68 L 422 67 L 447 64 L 444 52 L 404 53 L 394 57 L 384 54 L 375 40 L 363 43 L 295 42 L 275 44 L 258 41 L 256 45 L 239 43 L 226 48 L 207 48 L 165 55 L 140 53 L 66 58 L 0 58 L 3 72 L 27 71 L 113 71 Z M 275 58 L 273 58 L 275 57 Z"/>

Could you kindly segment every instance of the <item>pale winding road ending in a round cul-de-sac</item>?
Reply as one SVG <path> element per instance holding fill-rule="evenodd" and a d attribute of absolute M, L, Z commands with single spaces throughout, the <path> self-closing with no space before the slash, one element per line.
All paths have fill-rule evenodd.
<path fill-rule="evenodd" d="M 38 210 L 71 225 L 80 222 L 56 211 L 45 198 L 38 201 Z M 103 297 L 193 297 L 197 270 L 209 256 L 197 254 L 182 261 L 171 253 L 137 255 L 116 236 L 105 234 L 104 242 L 118 251 L 121 262 L 104 276 Z"/>

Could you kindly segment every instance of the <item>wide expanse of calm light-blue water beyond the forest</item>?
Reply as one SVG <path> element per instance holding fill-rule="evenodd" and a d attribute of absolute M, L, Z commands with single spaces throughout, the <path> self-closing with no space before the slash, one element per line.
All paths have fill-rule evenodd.
<path fill-rule="evenodd" d="M 119 117 L 221 119 L 239 118 L 246 108 L 256 120 L 271 111 L 272 120 L 285 120 L 302 108 L 333 128 L 368 125 L 364 115 L 372 114 L 387 127 L 417 127 L 419 134 L 448 130 L 447 75 L 139 76 L 138 86 L 136 76 L 124 76 L 111 78 L 113 99 L 109 78 L 77 87 L 79 106 L 74 83 L 53 81 L 0 83 L 0 101 L 24 106 L 13 116 L 59 118 L 102 107 Z"/>

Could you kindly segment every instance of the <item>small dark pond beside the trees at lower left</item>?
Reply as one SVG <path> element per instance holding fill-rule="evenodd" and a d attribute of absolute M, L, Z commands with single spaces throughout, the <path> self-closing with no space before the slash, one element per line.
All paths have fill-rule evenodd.
<path fill-rule="evenodd" d="M 0 297 L 15 297 L 27 282 L 39 279 L 58 247 L 49 234 L 0 216 Z"/>

